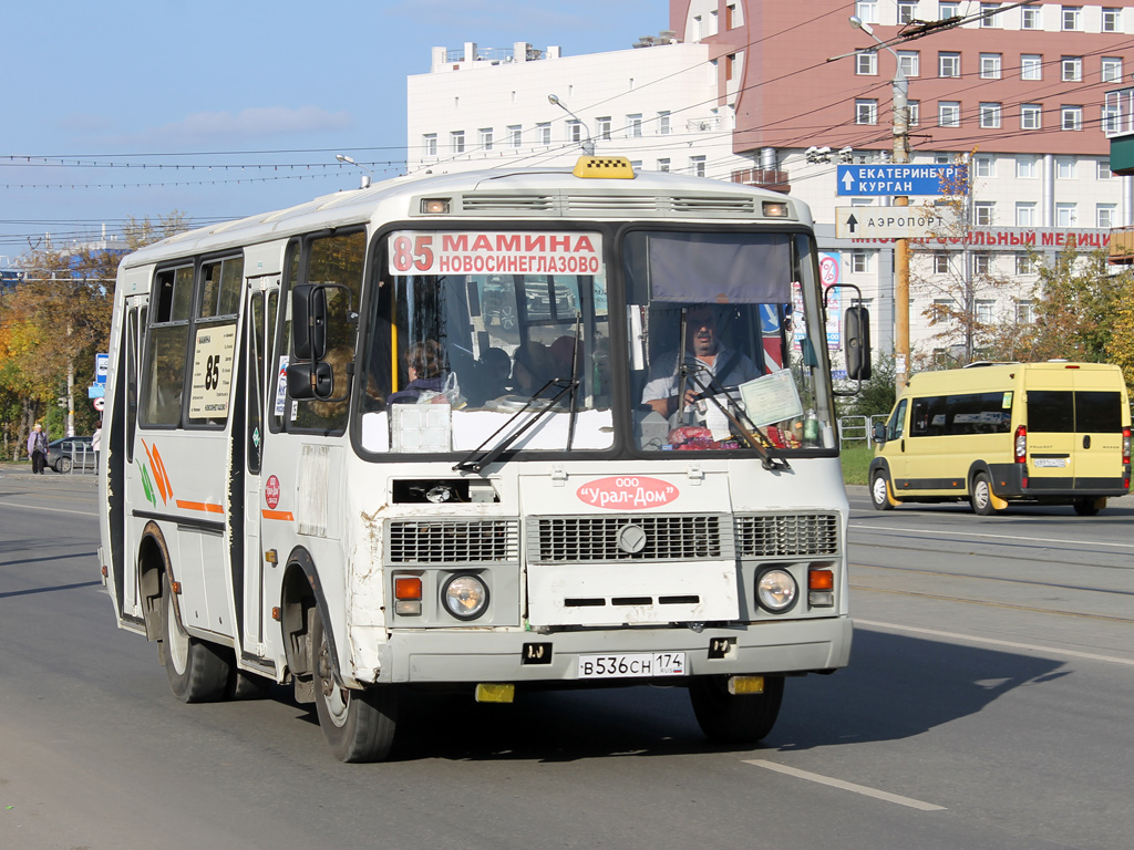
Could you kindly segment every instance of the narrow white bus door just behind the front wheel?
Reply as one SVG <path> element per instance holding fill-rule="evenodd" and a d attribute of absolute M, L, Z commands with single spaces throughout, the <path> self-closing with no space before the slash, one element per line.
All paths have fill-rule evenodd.
<path fill-rule="evenodd" d="M 276 314 L 279 307 L 279 277 L 249 280 L 247 291 L 247 333 L 243 351 L 244 381 L 244 534 L 243 593 L 240 607 L 240 646 L 246 654 L 261 654 L 264 641 L 264 570 L 272 564 L 264 560 L 262 524 L 272 521 L 279 499 L 274 476 L 261 481 L 264 465 L 266 406 L 273 402 L 276 373 L 272 366 Z M 240 598 L 243 596 L 243 598 Z"/>

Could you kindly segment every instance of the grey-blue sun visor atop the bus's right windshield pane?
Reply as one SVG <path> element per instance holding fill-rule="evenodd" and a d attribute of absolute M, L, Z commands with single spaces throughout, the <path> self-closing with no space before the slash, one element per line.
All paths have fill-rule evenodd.
<path fill-rule="evenodd" d="M 790 236 L 651 233 L 655 301 L 785 304 L 792 300 Z"/>

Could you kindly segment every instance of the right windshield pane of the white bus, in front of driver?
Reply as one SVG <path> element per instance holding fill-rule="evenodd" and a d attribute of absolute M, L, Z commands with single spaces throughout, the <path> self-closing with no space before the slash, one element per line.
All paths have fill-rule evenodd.
<path fill-rule="evenodd" d="M 811 246 L 790 233 L 634 232 L 624 246 L 645 451 L 831 448 Z M 810 321 L 809 321 L 810 320 Z"/>

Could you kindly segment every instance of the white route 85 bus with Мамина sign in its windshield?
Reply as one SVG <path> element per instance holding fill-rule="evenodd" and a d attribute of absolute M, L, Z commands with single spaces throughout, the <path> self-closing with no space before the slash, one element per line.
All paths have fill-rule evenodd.
<path fill-rule="evenodd" d="M 294 685 L 344 760 L 388 755 L 407 688 L 685 687 L 706 737 L 760 739 L 850 649 L 827 313 L 806 206 L 617 159 L 144 248 L 104 413 L 118 623 L 183 700 Z"/>

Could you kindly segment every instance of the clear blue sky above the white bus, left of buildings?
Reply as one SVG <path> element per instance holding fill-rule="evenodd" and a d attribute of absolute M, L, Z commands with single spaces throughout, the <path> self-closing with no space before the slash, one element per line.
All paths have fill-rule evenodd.
<path fill-rule="evenodd" d="M 430 48 L 628 49 L 667 0 L 6 3 L 0 267 L 126 216 L 249 215 L 399 172 Z"/>

